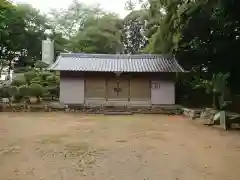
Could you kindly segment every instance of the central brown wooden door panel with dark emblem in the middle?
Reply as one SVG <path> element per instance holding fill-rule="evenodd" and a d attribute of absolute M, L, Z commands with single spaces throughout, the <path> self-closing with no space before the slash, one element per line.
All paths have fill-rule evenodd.
<path fill-rule="evenodd" d="M 112 78 L 107 80 L 107 99 L 128 101 L 129 80 L 124 78 Z"/>

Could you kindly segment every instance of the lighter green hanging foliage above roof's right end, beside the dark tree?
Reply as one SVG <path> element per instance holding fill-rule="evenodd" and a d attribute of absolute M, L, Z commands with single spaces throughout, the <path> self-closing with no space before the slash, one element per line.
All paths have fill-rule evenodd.
<path fill-rule="evenodd" d="M 149 45 L 145 52 L 172 53 L 177 47 L 179 31 L 177 27 L 178 9 L 183 6 L 180 0 L 176 1 L 149 1 Z M 178 38 L 177 38 L 178 37 Z"/>

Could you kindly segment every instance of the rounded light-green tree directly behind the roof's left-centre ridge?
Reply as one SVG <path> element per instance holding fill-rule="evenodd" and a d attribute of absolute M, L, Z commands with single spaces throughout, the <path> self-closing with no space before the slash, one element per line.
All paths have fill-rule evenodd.
<path fill-rule="evenodd" d="M 71 39 L 74 52 L 116 53 L 122 51 L 121 20 L 114 14 L 90 17 L 84 28 Z"/>

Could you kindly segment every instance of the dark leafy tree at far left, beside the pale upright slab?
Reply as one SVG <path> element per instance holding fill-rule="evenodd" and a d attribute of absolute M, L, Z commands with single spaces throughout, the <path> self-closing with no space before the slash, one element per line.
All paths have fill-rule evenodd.
<path fill-rule="evenodd" d="M 47 18 L 30 5 L 0 3 L 0 59 L 16 66 L 32 66 L 41 58 L 41 41 L 49 29 Z M 34 45 L 33 45 L 34 44 Z"/>

